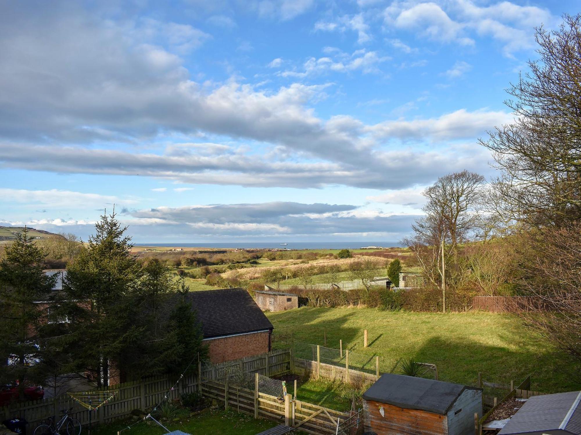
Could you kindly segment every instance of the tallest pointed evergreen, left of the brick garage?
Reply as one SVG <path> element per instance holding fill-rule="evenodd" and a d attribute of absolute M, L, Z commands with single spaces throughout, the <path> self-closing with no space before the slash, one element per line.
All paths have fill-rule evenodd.
<path fill-rule="evenodd" d="M 67 299 L 84 301 L 71 303 L 79 343 L 76 358 L 98 386 L 109 385 L 112 373 L 124 370 L 122 351 L 144 333 L 135 321 L 141 264 L 131 255 L 126 230 L 114 212 L 103 214 L 64 280 Z"/>

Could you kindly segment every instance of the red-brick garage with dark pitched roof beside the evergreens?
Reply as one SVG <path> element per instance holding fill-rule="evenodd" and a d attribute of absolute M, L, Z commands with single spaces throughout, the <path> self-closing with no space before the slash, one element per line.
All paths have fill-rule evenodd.
<path fill-rule="evenodd" d="M 168 304 L 167 312 L 181 297 L 175 296 Z M 191 303 L 202 324 L 211 362 L 236 360 L 270 351 L 272 324 L 245 289 L 189 292 L 185 299 Z"/>

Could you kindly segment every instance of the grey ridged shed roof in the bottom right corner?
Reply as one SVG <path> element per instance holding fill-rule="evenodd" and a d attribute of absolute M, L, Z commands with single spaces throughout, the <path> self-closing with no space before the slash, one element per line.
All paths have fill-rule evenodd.
<path fill-rule="evenodd" d="M 581 391 L 530 397 L 500 434 L 528 434 L 550 430 L 581 435 Z"/>

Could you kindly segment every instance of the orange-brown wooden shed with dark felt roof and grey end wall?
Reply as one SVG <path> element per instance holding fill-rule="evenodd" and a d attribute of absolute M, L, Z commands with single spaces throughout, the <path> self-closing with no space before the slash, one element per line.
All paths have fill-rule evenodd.
<path fill-rule="evenodd" d="M 482 416 L 482 389 L 385 374 L 363 394 L 365 432 L 466 435 Z"/>

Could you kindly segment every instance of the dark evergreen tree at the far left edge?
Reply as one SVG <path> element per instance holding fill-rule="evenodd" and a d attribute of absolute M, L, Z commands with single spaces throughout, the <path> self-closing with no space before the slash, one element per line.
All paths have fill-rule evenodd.
<path fill-rule="evenodd" d="M 0 365 L 2 382 L 19 382 L 19 398 L 24 400 L 26 383 L 41 382 L 38 328 L 44 314 L 38 301 L 47 301 L 56 276 L 42 271 L 46 253 L 28 237 L 24 228 L 6 248 L 0 262 Z"/>

